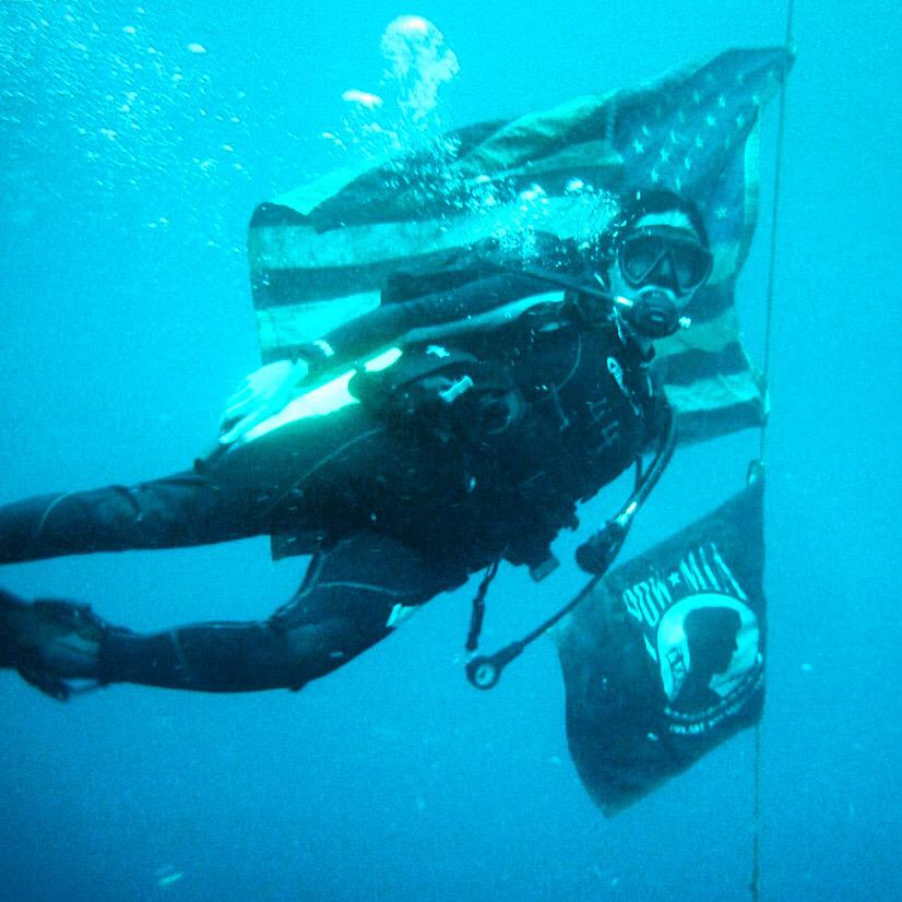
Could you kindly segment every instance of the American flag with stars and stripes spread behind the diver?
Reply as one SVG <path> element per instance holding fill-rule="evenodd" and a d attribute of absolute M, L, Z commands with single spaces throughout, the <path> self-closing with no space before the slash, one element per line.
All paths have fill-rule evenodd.
<path fill-rule="evenodd" d="M 264 360 L 385 300 L 393 277 L 453 270 L 490 241 L 524 262 L 534 238 L 591 242 L 626 188 L 691 198 L 714 269 L 692 327 L 658 343 L 683 440 L 759 425 L 767 390 L 739 341 L 736 277 L 758 210 L 760 110 L 792 64 L 785 48 L 727 50 L 637 90 L 574 98 L 367 159 L 261 204 L 250 225 Z"/>

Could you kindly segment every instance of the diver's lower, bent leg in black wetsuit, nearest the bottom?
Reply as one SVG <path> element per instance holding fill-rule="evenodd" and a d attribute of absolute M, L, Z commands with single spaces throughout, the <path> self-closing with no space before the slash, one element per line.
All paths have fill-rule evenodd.
<path fill-rule="evenodd" d="M 103 625 L 94 673 L 84 673 L 80 650 L 76 673 L 50 676 L 57 683 L 94 676 L 102 683 L 207 692 L 299 689 L 383 639 L 417 606 L 464 579 L 461 571 L 427 562 L 397 542 L 365 534 L 318 554 L 298 593 L 265 622 L 198 624 L 153 634 Z M 0 622 L 0 645 L 2 633 Z M 22 645 L 20 634 L 13 629 L 8 640 L 13 650 Z M 5 666 L 22 672 L 16 662 L 23 654 L 7 654 Z M 34 657 L 32 653 L 28 662 Z M 35 672 L 39 668 L 32 664 Z"/>

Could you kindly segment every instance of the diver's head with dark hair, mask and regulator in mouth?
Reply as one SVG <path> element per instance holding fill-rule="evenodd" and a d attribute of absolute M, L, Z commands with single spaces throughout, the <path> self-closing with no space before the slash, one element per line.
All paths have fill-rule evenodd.
<path fill-rule="evenodd" d="M 711 274 L 704 221 L 672 191 L 633 191 L 609 232 L 603 281 L 624 320 L 646 339 L 670 335 Z"/>

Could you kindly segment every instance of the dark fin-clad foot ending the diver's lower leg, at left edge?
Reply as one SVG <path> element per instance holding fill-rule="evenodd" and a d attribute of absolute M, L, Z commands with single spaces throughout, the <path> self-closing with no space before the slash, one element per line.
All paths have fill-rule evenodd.
<path fill-rule="evenodd" d="M 68 679 L 96 679 L 108 627 L 87 605 L 28 604 L 0 590 L 0 668 L 14 667 L 50 698 L 66 701 Z"/>

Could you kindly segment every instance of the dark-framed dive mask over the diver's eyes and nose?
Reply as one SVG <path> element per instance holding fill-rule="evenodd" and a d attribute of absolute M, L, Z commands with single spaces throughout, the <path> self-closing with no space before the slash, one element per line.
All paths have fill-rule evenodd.
<path fill-rule="evenodd" d="M 624 281 L 632 288 L 660 285 L 676 295 L 701 287 L 709 275 L 711 251 L 693 235 L 669 226 L 648 226 L 620 241 L 617 262 Z"/>

